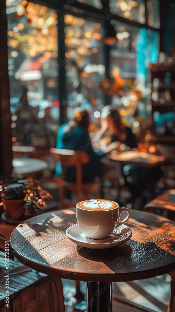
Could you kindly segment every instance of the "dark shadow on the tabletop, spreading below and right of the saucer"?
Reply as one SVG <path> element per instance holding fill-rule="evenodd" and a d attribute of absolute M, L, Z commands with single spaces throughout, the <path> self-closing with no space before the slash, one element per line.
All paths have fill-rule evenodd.
<path fill-rule="evenodd" d="M 175 242 L 169 241 L 166 249 L 175 248 Z M 90 261 L 102 262 L 113 272 L 122 274 L 156 269 L 175 264 L 175 256 L 148 241 L 140 243 L 130 240 L 127 243 L 110 249 L 82 248 L 78 250 L 80 256 Z"/>

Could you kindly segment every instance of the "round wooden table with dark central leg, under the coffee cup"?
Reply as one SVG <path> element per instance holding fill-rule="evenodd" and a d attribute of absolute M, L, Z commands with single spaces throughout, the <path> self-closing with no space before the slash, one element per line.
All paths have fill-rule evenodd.
<path fill-rule="evenodd" d="M 66 236 L 77 223 L 75 209 L 29 219 L 12 232 L 14 255 L 25 265 L 52 276 L 87 282 L 87 311 L 112 312 L 112 282 L 175 275 L 175 223 L 147 212 L 131 211 L 133 236 L 111 249 L 94 250 Z M 175 311 L 172 280 L 170 312 Z"/>

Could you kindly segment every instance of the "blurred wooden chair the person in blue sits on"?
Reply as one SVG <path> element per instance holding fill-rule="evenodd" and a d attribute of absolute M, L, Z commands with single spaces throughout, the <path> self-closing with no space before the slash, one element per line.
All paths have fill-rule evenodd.
<path fill-rule="evenodd" d="M 89 198 L 89 195 L 93 193 L 93 189 L 95 188 L 95 196 L 96 198 L 100 198 L 100 188 L 99 181 L 91 182 L 91 183 L 82 183 L 83 175 L 82 175 L 82 165 L 89 163 L 89 156 L 86 152 L 83 154 L 78 153 L 77 151 L 70 149 L 50 149 L 51 154 L 55 157 L 57 161 L 61 162 L 62 173 L 61 173 L 61 183 L 58 178 L 58 184 L 61 187 L 61 198 L 60 198 L 60 208 L 63 209 L 65 207 L 75 207 L 75 202 L 67 201 L 65 199 L 65 192 L 69 191 L 71 193 L 75 192 L 77 195 L 77 202 L 83 200 L 84 198 Z M 76 167 L 76 182 L 71 183 L 65 181 L 65 168 L 68 167 Z M 55 179 L 56 182 L 56 179 Z M 90 197 L 91 198 L 91 197 Z"/>

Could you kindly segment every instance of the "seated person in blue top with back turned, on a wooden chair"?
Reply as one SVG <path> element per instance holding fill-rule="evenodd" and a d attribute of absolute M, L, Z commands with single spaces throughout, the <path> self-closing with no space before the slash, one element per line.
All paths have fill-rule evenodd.
<path fill-rule="evenodd" d="M 90 124 L 87 110 L 76 108 L 74 110 L 75 119 L 68 124 L 63 124 L 58 130 L 57 145 L 58 149 L 73 149 L 82 154 L 87 152 L 90 162 L 83 164 L 83 183 L 92 182 L 96 176 L 101 176 L 100 157 L 93 151 L 89 138 L 88 127 Z M 56 175 L 61 175 L 61 163 L 57 163 Z M 69 167 L 65 171 L 65 180 L 68 182 L 76 181 L 75 167 Z"/>

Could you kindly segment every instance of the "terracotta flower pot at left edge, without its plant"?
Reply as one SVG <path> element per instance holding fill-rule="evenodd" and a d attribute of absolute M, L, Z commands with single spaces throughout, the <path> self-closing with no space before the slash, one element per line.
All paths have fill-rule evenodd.
<path fill-rule="evenodd" d="M 7 199 L 2 197 L 2 202 L 7 218 L 11 218 L 14 221 L 24 219 L 23 199 Z"/>

